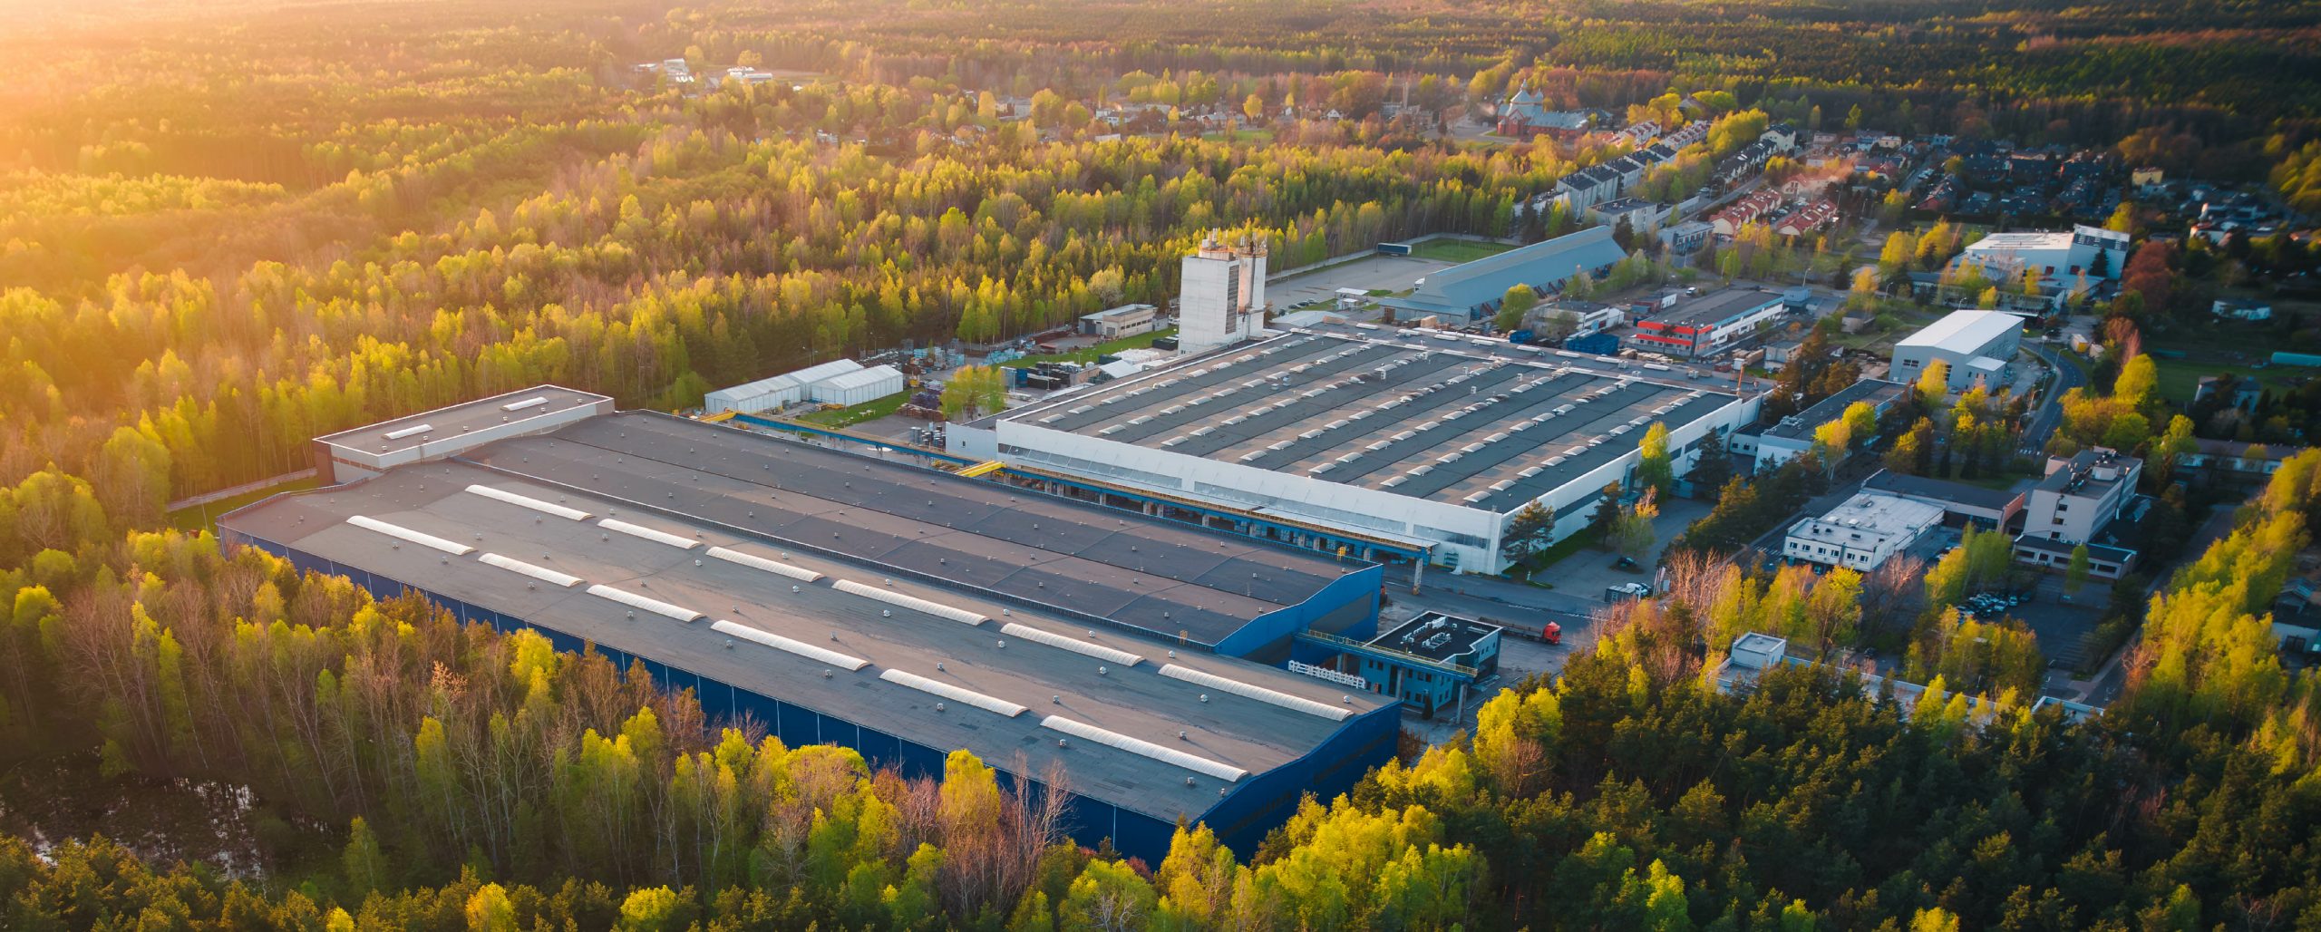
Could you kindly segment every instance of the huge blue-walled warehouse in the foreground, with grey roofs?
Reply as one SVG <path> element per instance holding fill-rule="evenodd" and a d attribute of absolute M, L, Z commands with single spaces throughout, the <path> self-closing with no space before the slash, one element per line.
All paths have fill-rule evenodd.
<path fill-rule="evenodd" d="M 457 413 L 446 413 L 453 420 Z M 935 774 L 1063 767 L 1075 835 L 1239 851 L 1393 753 L 1400 702 L 1290 675 L 1376 633 L 1381 568 L 655 413 L 276 496 L 230 543 L 596 645 L 713 716 Z"/>

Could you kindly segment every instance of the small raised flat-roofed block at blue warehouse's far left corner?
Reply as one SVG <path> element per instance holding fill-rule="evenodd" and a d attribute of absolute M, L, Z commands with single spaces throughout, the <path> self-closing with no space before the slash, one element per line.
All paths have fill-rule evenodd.
<path fill-rule="evenodd" d="M 420 464 L 511 436 L 613 413 L 613 399 L 557 385 L 494 394 L 469 403 L 397 417 L 313 438 L 313 468 L 325 482 L 353 482 L 395 466 Z"/>

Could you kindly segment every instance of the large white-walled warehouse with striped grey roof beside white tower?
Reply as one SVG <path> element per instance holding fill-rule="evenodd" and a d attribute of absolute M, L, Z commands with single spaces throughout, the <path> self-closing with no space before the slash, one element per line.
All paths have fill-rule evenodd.
<path fill-rule="evenodd" d="M 1655 420 L 1685 473 L 1701 436 L 1757 413 L 1755 399 L 1671 366 L 1474 341 L 1300 329 L 954 424 L 947 438 L 970 457 L 1416 540 L 1437 563 L 1497 573 L 1523 505 L 1553 508 L 1555 538 L 1583 529 L 1601 489 L 1629 480 Z"/>

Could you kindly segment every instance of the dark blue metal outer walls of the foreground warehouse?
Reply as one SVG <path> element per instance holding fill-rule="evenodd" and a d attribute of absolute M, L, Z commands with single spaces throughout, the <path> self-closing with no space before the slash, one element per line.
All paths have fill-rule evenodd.
<path fill-rule="evenodd" d="M 757 721 L 766 730 L 782 740 L 782 744 L 838 744 L 849 747 L 877 767 L 894 767 L 903 777 L 942 777 L 942 760 L 949 749 L 935 749 L 926 744 L 910 742 L 898 735 L 889 735 L 875 728 L 863 728 L 845 716 L 817 712 L 796 702 L 784 702 L 773 696 L 764 696 L 750 689 L 740 689 L 726 682 L 701 677 L 696 672 L 673 668 L 645 656 L 634 656 L 603 645 L 590 645 L 580 638 L 571 638 L 557 628 L 548 628 L 513 614 L 501 614 L 480 605 L 469 605 L 457 598 L 448 598 L 422 587 L 413 587 L 402 580 L 369 573 L 360 566 L 337 563 L 295 547 L 285 547 L 272 540 L 253 538 L 248 533 L 218 529 L 227 545 L 246 545 L 265 549 L 274 556 L 288 559 L 299 573 L 323 573 L 344 575 L 357 587 L 369 591 L 374 598 L 397 598 L 406 591 L 415 591 L 427 600 L 443 605 L 460 621 L 480 621 L 499 631 L 532 628 L 545 635 L 562 651 L 580 651 L 594 647 L 596 654 L 610 658 L 617 668 L 627 670 L 629 663 L 643 663 L 652 675 L 652 682 L 668 691 L 694 691 L 701 702 L 701 712 L 710 721 Z M 1339 584 L 1358 580 L 1346 577 Z M 1372 580 L 1372 596 L 1376 596 L 1376 582 Z M 1318 598 L 1316 598 L 1318 600 Z M 1316 600 L 1309 600 L 1316 603 Z M 1281 612 L 1274 612 L 1281 614 Z M 1376 614 L 1372 610 L 1372 614 Z M 1330 740 L 1321 742 L 1307 756 L 1290 760 L 1288 765 L 1256 772 L 1242 779 L 1223 800 L 1219 800 L 1198 821 L 1216 830 L 1219 839 L 1232 846 L 1239 855 L 1249 855 L 1258 849 L 1274 825 L 1288 818 L 1297 800 L 1304 793 L 1316 793 L 1328 800 L 1337 793 L 1353 788 L 1369 767 L 1386 763 L 1395 751 L 1395 733 L 1400 728 L 1400 707 L 1383 705 L 1369 714 L 1349 719 L 1339 726 Z M 1035 779 L 1014 777 L 998 770 L 996 760 L 984 760 L 993 765 L 1000 784 L 1005 788 L 1024 786 L 1031 793 L 1047 793 Z M 1144 858 L 1147 865 L 1160 865 L 1167 855 L 1170 837 L 1177 825 L 1160 821 L 1140 811 L 1114 807 L 1105 800 L 1070 793 L 1065 809 L 1068 830 L 1075 842 L 1084 846 L 1098 846 L 1102 839 L 1112 839 L 1112 846 L 1123 855 Z"/>

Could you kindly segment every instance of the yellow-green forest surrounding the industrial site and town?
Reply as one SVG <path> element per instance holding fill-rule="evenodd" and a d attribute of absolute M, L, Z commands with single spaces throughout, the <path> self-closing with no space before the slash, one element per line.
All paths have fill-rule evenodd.
<path fill-rule="evenodd" d="M 2316 35 L 2312 0 L 0 0 L 0 763 L 86 781 L 58 798 L 241 788 L 262 853 L 0 837 L 0 927 L 2321 927 L 2321 698 L 2265 621 L 2321 454 L 2135 605 L 2103 716 L 2033 709 L 2015 631 L 1882 607 L 1915 580 L 1720 561 L 1743 494 L 1810 498 L 1785 471 L 1560 679 L 1256 851 L 1186 825 L 1163 862 L 1068 844 L 1003 760 L 782 747 L 641 668 L 169 529 L 311 436 L 460 399 L 687 408 L 1158 304 L 1216 227 L 1274 269 L 1560 227 L 1520 204 L 1611 151 L 1446 132 L 1518 86 L 1692 95 L 1720 151 L 1764 121 L 2142 146 L 2309 199 Z M 636 67 L 671 58 L 773 79 Z M 1116 132 L 1116 104 L 1154 109 Z M 1738 631 L 1866 626 L 1922 696 L 1713 684 Z"/>

